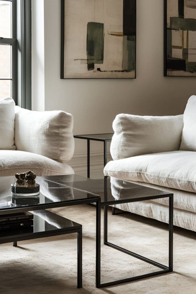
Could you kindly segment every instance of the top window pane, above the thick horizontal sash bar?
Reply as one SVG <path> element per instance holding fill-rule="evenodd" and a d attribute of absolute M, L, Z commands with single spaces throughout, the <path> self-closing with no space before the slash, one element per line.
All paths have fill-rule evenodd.
<path fill-rule="evenodd" d="M 11 38 L 11 2 L 0 0 L 0 37 Z"/>

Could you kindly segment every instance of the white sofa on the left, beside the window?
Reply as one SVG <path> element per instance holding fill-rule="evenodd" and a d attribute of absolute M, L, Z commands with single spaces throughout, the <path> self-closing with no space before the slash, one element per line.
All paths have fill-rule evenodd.
<path fill-rule="evenodd" d="M 73 174 L 73 116 L 30 111 L 0 99 L 0 176 L 32 170 L 37 176 Z"/>

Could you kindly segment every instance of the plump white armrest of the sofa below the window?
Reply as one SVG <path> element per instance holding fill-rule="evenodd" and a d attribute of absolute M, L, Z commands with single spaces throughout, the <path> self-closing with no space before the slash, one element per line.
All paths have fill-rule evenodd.
<path fill-rule="evenodd" d="M 74 152 L 73 116 L 64 111 L 30 111 L 15 106 L 16 150 L 69 161 Z"/>

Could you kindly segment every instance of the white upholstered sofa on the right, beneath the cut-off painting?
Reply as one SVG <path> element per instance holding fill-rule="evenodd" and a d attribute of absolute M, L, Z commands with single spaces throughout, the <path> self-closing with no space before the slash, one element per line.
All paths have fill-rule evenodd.
<path fill-rule="evenodd" d="M 189 98 L 184 115 L 119 114 L 113 129 L 113 161 L 104 175 L 173 193 L 174 225 L 195 231 L 196 96 Z M 119 197 L 119 184 L 114 185 Z M 162 198 L 115 207 L 168 223 L 168 205 L 168 198 Z"/>

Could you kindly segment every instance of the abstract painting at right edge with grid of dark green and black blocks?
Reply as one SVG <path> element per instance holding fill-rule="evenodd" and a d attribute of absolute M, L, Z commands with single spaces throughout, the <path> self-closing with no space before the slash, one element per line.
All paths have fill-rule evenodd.
<path fill-rule="evenodd" d="M 164 76 L 196 76 L 196 0 L 164 0 Z"/>

